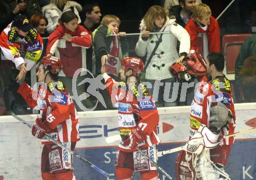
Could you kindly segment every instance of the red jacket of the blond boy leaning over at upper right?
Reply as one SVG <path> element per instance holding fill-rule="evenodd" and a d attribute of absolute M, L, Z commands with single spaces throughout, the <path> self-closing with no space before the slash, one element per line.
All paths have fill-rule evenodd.
<path fill-rule="evenodd" d="M 197 46 L 196 46 L 197 35 L 199 33 L 206 33 L 208 37 L 209 53 L 221 51 L 221 38 L 219 34 L 219 24 L 214 17 L 210 16 L 210 24 L 204 27 L 198 26 L 195 23 L 194 19 L 191 18 L 187 22 L 185 29 L 187 30 L 187 33 L 189 33 L 190 35 L 191 50 L 195 51 L 195 49 L 197 49 Z"/>

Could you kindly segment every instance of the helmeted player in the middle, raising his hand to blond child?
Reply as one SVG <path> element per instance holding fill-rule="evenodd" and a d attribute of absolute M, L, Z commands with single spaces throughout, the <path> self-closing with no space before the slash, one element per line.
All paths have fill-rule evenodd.
<path fill-rule="evenodd" d="M 138 57 L 125 57 L 121 61 L 120 78 L 116 82 L 106 74 L 105 62 L 101 73 L 113 105 L 118 107 L 119 132 L 122 141 L 116 159 L 117 179 L 131 179 L 134 172 L 140 172 L 141 179 L 159 179 L 157 167 L 145 159 L 136 147 L 143 149 L 154 161 L 159 122 L 158 110 L 147 88 L 140 83 L 138 75 L 144 70 L 144 63 Z"/>

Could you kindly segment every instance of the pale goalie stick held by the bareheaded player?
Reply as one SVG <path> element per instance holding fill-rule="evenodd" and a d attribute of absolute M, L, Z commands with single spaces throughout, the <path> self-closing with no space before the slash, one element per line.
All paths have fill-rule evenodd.
<path fill-rule="evenodd" d="M 256 127 L 253 127 L 253 128 L 248 128 L 248 129 L 243 129 L 241 131 L 237 131 L 237 132 L 233 132 L 231 134 L 228 134 L 228 135 L 224 135 L 223 136 L 223 139 L 224 138 L 229 138 L 231 136 L 235 136 L 235 135 L 239 135 L 239 134 L 244 134 L 246 132 L 250 132 L 250 131 L 255 131 L 256 130 Z M 195 150 L 198 149 L 200 145 L 194 145 L 194 146 L 191 146 L 189 151 L 190 152 L 195 152 Z M 157 152 L 157 157 L 161 157 L 165 154 L 170 154 L 170 153 L 175 153 L 175 152 L 179 152 L 180 150 L 185 150 L 186 149 L 186 145 L 184 146 L 180 146 L 180 147 L 175 147 L 173 149 L 168 149 L 168 150 L 163 150 L 163 151 L 160 151 L 160 152 Z"/>

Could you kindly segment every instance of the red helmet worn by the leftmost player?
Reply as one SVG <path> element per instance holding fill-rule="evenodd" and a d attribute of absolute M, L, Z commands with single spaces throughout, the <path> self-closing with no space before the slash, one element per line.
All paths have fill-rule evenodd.
<path fill-rule="evenodd" d="M 52 74 L 59 74 L 62 70 L 61 59 L 55 56 L 45 56 L 40 62 L 45 70 L 49 70 Z"/>

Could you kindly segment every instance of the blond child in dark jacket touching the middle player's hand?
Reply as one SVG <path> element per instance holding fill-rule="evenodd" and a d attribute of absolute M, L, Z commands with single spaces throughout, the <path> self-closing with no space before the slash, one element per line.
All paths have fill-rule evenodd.
<path fill-rule="evenodd" d="M 115 15 L 106 15 L 93 32 L 94 51 L 96 56 L 96 74 L 101 74 L 101 61 L 106 61 L 106 73 L 118 75 L 120 62 L 128 55 L 128 45 L 125 32 L 119 32 L 120 19 Z M 119 36 L 109 37 L 111 34 Z"/>

